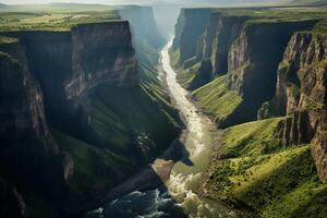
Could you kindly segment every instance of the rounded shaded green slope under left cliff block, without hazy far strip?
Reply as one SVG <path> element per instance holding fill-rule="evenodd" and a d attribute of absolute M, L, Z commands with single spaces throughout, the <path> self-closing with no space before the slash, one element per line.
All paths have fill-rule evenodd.
<path fill-rule="evenodd" d="M 178 124 L 153 92 L 144 85 L 97 87 L 92 95 L 92 128 L 97 137 L 122 155 L 136 138 L 150 157 L 167 148 L 178 136 Z"/>

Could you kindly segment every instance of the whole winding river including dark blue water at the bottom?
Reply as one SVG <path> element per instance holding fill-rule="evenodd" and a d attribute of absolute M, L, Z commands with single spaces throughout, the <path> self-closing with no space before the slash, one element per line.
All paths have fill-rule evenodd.
<path fill-rule="evenodd" d="M 203 198 L 194 192 L 202 172 L 209 165 L 215 144 L 215 125 L 207 117 L 197 112 L 187 99 L 189 92 L 177 82 L 169 58 L 171 44 L 172 41 L 169 41 L 161 50 L 161 66 L 171 98 L 186 124 L 186 130 L 181 136 L 185 149 L 184 157 L 174 162 L 165 185 L 146 192 L 134 191 L 89 214 L 89 218 L 237 217 L 222 204 Z"/>

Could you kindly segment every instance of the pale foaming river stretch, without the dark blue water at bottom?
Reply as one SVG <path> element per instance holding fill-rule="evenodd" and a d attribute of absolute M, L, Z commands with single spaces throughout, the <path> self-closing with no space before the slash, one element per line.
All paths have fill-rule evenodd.
<path fill-rule="evenodd" d="M 201 172 L 209 165 L 210 152 L 214 144 L 211 134 L 213 123 L 197 113 L 194 105 L 187 99 L 189 92 L 178 82 L 177 74 L 170 64 L 169 48 L 172 40 L 161 51 L 161 64 L 166 72 L 166 80 L 170 95 L 175 100 L 177 108 L 186 120 L 185 149 L 190 154 L 191 166 L 177 162 L 166 183 L 172 198 L 186 211 L 190 217 L 235 217 L 227 207 L 209 199 L 202 198 L 196 190 Z"/>

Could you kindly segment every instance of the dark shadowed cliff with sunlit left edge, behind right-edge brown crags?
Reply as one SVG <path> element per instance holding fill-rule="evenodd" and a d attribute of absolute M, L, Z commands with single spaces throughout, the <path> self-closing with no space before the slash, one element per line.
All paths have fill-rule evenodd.
<path fill-rule="evenodd" d="M 231 46 L 227 85 L 253 108 L 253 117 L 257 108 L 275 93 L 278 63 L 292 34 L 312 27 L 314 23 L 251 21 Z"/>

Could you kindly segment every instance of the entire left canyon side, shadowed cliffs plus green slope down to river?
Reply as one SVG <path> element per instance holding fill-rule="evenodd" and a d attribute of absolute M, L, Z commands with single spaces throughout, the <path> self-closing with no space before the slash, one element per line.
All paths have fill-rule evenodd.
<path fill-rule="evenodd" d="M 13 185 L 0 191 L 22 216 L 24 208 L 33 217 L 62 217 L 98 207 L 180 134 L 157 81 L 161 39 L 150 32 L 153 12 L 133 10 L 125 11 L 138 25 L 133 32 L 129 21 L 107 20 L 109 12 L 65 19 L 69 26 L 2 26 L 0 177 Z M 153 25 L 138 31 L 140 17 Z M 141 44 L 147 47 L 136 55 Z"/>

